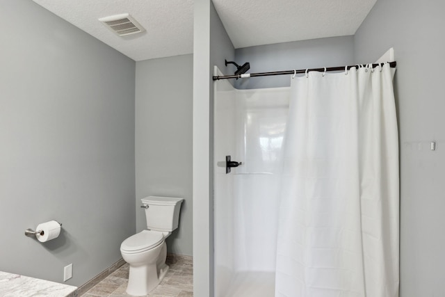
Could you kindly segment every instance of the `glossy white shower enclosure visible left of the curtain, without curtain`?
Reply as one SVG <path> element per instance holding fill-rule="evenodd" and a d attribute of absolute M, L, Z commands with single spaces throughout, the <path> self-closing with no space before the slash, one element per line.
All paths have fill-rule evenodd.
<path fill-rule="evenodd" d="M 274 296 L 289 88 L 214 90 L 215 296 Z M 242 165 L 226 174 L 226 156 Z"/>

